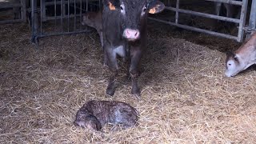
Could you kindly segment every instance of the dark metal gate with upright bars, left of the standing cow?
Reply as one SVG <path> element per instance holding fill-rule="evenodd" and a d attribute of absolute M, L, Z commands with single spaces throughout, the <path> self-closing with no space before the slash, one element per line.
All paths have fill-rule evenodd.
<path fill-rule="evenodd" d="M 101 9 L 100 0 L 31 0 L 31 42 L 38 38 L 86 33 L 82 26 L 82 14 Z"/>

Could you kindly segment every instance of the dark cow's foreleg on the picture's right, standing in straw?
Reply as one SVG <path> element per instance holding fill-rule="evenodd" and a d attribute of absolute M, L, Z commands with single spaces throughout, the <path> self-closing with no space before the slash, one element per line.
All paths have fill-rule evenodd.
<path fill-rule="evenodd" d="M 142 57 L 141 50 L 133 50 L 130 58 L 130 77 L 131 77 L 131 94 L 140 96 L 140 90 L 138 87 L 138 65 Z"/>

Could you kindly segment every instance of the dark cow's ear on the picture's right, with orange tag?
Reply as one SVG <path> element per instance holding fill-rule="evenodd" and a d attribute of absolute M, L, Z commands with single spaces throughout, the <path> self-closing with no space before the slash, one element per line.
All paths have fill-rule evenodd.
<path fill-rule="evenodd" d="M 153 0 L 148 3 L 147 8 L 149 9 L 150 14 L 158 14 L 165 9 L 165 5 L 158 0 Z"/>

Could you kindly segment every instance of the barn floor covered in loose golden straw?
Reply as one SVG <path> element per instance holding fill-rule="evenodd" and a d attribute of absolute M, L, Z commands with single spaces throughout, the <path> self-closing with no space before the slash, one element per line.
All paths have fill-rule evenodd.
<path fill-rule="evenodd" d="M 159 35 L 150 30 L 138 99 L 122 62 L 114 97 L 105 95 L 95 32 L 42 38 L 36 48 L 25 24 L 0 25 L 0 143 L 254 143 L 256 71 L 226 78 L 224 53 Z M 139 125 L 75 127 L 92 99 L 130 103 Z"/>

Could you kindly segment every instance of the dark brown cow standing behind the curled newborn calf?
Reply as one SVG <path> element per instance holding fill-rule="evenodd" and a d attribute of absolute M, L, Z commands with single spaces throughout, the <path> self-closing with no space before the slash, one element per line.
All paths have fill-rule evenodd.
<path fill-rule="evenodd" d="M 131 93 L 140 95 L 138 64 L 146 49 L 147 16 L 161 12 L 164 7 L 158 0 L 103 0 L 103 46 L 111 71 L 106 94 L 114 95 L 119 55 L 130 62 Z"/>

